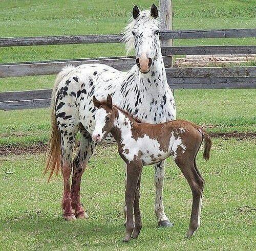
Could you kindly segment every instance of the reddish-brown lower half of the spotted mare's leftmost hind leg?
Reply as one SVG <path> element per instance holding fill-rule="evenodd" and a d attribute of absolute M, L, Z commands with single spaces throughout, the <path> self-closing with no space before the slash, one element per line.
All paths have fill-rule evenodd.
<path fill-rule="evenodd" d="M 62 174 L 63 174 L 63 198 L 62 198 L 62 209 L 63 209 L 63 218 L 66 220 L 75 220 L 75 215 L 71 207 L 71 197 L 70 197 L 70 174 L 72 170 L 71 163 L 63 160 L 61 163 Z"/>

